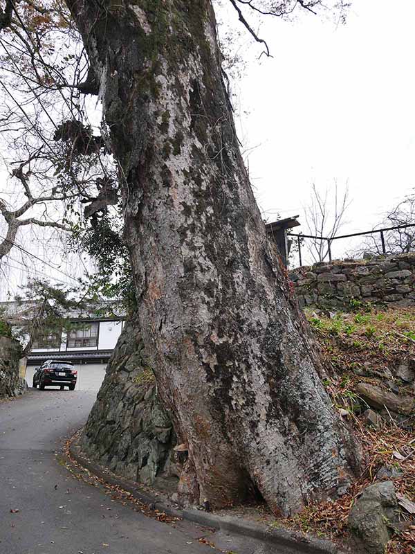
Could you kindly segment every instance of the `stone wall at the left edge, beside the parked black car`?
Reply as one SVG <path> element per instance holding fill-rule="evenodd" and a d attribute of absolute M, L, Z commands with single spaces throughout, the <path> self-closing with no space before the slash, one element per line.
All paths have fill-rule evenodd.
<path fill-rule="evenodd" d="M 0 337 L 0 398 L 17 396 L 27 390 L 19 377 L 21 346 L 18 341 Z"/>

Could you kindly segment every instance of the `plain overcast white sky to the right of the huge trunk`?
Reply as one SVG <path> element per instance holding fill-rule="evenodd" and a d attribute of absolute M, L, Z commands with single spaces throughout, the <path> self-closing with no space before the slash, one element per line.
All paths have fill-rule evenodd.
<path fill-rule="evenodd" d="M 337 28 L 313 15 L 264 19 L 274 58 L 250 63 L 240 95 L 268 219 L 301 214 L 312 181 L 348 180 L 344 232 L 366 231 L 415 186 L 414 21 L 413 0 L 354 0 Z"/>

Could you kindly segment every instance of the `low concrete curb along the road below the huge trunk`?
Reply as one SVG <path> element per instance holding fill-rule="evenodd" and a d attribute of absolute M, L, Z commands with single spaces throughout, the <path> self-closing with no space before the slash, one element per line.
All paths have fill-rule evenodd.
<path fill-rule="evenodd" d="M 77 463 L 82 465 L 86 470 L 89 470 L 89 472 L 99 479 L 106 481 L 110 485 L 116 485 L 122 488 L 138 501 L 153 506 L 156 510 L 165 512 L 172 517 L 187 519 L 205 527 L 227 531 L 234 535 L 251 537 L 253 539 L 259 539 L 262 542 L 282 546 L 285 548 L 284 552 L 287 552 L 287 554 L 288 551 L 292 551 L 293 554 L 345 554 L 347 552 L 347 550 L 341 550 L 339 546 L 333 544 L 333 542 L 324 539 L 316 539 L 315 537 L 304 535 L 296 531 L 282 528 L 269 528 L 253 521 L 241 520 L 230 516 L 214 515 L 201 510 L 173 508 L 166 502 L 160 502 L 160 499 L 155 495 L 142 491 L 137 485 L 131 483 L 131 481 L 115 476 L 109 471 L 102 469 L 98 464 L 84 458 L 77 438 L 71 441 L 69 452 Z"/>

